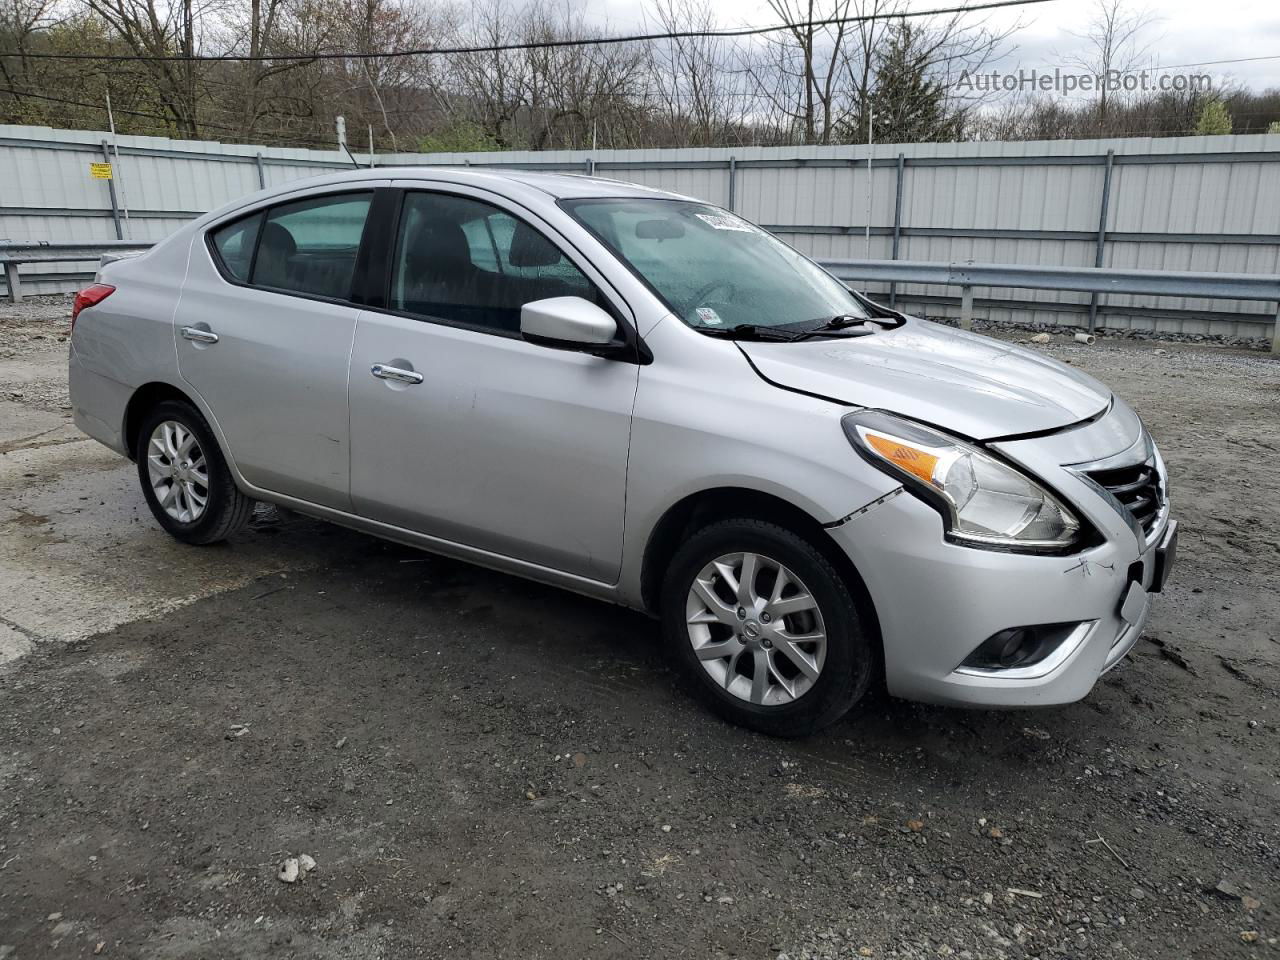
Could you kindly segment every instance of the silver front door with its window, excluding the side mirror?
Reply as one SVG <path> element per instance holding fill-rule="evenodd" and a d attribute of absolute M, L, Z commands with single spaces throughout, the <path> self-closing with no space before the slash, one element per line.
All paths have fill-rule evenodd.
<path fill-rule="evenodd" d="M 521 305 L 547 297 L 622 316 L 589 271 L 529 215 L 404 195 L 388 308 L 361 314 L 352 348 L 358 513 L 617 580 L 639 367 L 520 338 Z"/>

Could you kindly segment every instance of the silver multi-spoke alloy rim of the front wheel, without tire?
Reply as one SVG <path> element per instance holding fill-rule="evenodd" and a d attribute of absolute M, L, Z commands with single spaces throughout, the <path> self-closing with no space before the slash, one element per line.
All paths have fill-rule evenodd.
<path fill-rule="evenodd" d="M 822 675 L 827 628 L 813 593 L 760 553 L 717 557 L 685 603 L 689 641 L 723 690 L 760 707 L 804 696 Z"/>

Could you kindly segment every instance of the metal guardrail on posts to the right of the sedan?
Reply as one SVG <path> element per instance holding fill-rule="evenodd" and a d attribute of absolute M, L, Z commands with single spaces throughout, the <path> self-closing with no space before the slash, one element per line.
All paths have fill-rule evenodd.
<path fill-rule="evenodd" d="M 1276 301 L 1277 315 L 1271 352 L 1280 353 L 1280 275 L 1275 274 L 1116 270 L 1098 266 L 1025 266 L 1021 264 L 974 264 L 972 261 L 937 264 L 923 260 L 819 260 L 818 262 L 833 276 L 846 282 L 872 280 L 891 284 L 920 283 L 959 287 L 960 326 L 966 330 L 973 325 L 974 287 Z"/>

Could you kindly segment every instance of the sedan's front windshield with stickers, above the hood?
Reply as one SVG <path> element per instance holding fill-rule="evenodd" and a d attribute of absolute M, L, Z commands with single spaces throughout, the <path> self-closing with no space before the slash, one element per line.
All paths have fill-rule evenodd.
<path fill-rule="evenodd" d="M 562 206 L 695 329 L 806 330 L 833 317 L 867 317 L 840 280 L 727 210 L 649 198 Z"/>

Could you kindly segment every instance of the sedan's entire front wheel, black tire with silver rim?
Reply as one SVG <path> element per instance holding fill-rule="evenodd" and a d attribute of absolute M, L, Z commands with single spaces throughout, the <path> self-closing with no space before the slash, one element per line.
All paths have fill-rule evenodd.
<path fill-rule="evenodd" d="M 745 727 L 806 736 L 870 686 L 874 658 L 844 577 L 774 524 L 727 520 L 698 531 L 672 558 L 660 612 L 682 672 Z"/>

